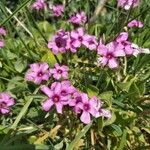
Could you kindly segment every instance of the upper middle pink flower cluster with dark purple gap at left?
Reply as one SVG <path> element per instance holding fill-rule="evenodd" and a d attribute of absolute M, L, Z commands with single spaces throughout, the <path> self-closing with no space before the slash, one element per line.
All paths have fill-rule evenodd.
<path fill-rule="evenodd" d="M 82 45 L 90 50 L 96 50 L 97 48 L 96 37 L 86 34 L 82 27 L 71 32 L 59 30 L 48 42 L 48 48 L 51 49 L 55 55 L 68 50 L 75 53 Z"/>

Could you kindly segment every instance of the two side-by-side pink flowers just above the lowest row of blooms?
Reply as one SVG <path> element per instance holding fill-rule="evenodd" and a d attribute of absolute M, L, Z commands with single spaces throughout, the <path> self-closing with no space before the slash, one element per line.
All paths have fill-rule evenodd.
<path fill-rule="evenodd" d="M 49 68 L 47 63 L 34 63 L 30 65 L 30 69 L 26 72 L 25 79 L 35 84 L 48 81 L 51 76 L 56 80 L 67 79 L 68 71 L 69 68 L 65 65 L 55 64 L 54 68 Z"/>

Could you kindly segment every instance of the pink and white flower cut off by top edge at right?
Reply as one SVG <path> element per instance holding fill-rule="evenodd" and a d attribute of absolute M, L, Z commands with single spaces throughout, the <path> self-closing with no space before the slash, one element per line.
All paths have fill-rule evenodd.
<path fill-rule="evenodd" d="M 122 7 L 125 10 L 129 10 L 131 7 L 137 7 L 140 0 L 118 0 L 118 7 Z"/>

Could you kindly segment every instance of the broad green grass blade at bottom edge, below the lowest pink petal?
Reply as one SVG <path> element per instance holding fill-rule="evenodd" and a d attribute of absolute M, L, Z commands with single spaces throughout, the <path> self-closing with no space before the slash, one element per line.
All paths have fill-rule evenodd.
<path fill-rule="evenodd" d="M 92 125 L 92 122 L 88 125 L 86 125 L 75 137 L 75 139 L 69 144 L 69 146 L 66 148 L 66 150 L 73 150 L 75 147 L 76 143 L 80 141 L 80 139 L 87 133 L 87 131 L 90 129 Z"/>

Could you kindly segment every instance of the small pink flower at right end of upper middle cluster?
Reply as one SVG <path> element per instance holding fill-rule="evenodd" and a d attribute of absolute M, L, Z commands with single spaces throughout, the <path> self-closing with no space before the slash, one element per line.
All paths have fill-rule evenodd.
<path fill-rule="evenodd" d="M 93 35 L 85 35 L 83 40 L 83 45 L 90 50 L 95 50 L 98 45 L 96 37 Z"/>

